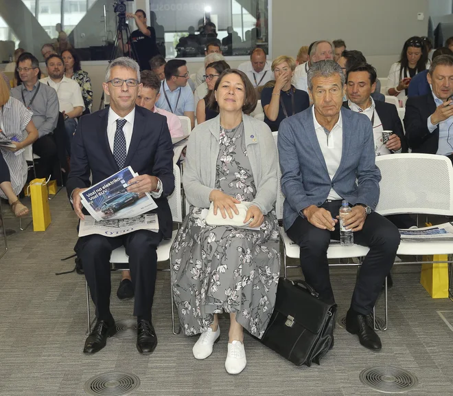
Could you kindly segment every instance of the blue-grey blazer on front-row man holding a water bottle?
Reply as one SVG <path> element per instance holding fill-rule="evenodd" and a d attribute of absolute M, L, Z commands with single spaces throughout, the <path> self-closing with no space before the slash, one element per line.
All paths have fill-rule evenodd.
<path fill-rule="evenodd" d="M 279 127 L 277 146 L 281 168 L 283 226 L 285 230 L 307 206 L 321 206 L 330 189 L 352 203 L 375 209 L 379 200 L 381 173 L 375 165 L 373 129 L 360 113 L 341 109 L 342 156 L 330 180 L 325 159 L 314 130 L 312 107 L 286 118 Z M 336 213 L 332 213 L 335 216 Z"/>

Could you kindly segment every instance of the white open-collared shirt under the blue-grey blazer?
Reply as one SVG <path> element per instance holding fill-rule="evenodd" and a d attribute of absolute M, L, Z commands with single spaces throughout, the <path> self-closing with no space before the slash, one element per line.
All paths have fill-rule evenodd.
<path fill-rule="evenodd" d="M 319 146 L 321 147 L 321 151 L 324 156 L 325 164 L 327 166 L 327 172 L 329 173 L 330 180 L 334 179 L 335 173 L 338 170 L 341 162 L 341 155 L 343 151 L 343 123 L 341 119 L 341 111 L 340 116 L 338 117 L 338 121 L 332 128 L 332 131 L 326 133 L 321 124 L 316 120 L 314 115 L 314 106 L 312 106 L 313 112 L 313 123 L 314 123 L 314 130 L 316 131 L 316 137 L 318 137 Z M 329 195 L 327 199 L 332 199 L 332 201 L 336 201 L 338 199 L 342 199 L 340 195 L 331 188 L 329 191 Z"/>

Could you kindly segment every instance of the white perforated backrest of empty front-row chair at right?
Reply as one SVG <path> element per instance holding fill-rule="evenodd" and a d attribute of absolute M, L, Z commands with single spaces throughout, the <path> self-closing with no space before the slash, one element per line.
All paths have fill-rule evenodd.
<path fill-rule="evenodd" d="M 376 157 L 381 170 L 380 214 L 453 215 L 453 166 L 434 154 L 391 154 Z"/>

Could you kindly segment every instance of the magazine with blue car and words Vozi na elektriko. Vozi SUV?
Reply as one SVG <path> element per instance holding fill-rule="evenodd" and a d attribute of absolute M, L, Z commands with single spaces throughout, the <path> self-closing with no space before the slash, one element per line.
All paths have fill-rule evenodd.
<path fill-rule="evenodd" d="M 138 176 L 130 166 L 80 192 L 82 205 L 96 220 L 128 219 L 157 208 L 149 192 L 128 192 L 128 181 Z"/>

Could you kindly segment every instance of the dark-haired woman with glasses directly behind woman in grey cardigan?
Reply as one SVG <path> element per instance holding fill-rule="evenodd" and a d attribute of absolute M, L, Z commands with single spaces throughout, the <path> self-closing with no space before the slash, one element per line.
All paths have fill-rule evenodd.
<path fill-rule="evenodd" d="M 208 92 L 205 98 L 198 100 L 196 105 L 196 120 L 198 124 L 218 116 L 218 104 L 216 100 L 211 101 L 211 96 L 214 94 L 214 87 L 216 86 L 216 82 L 220 77 L 220 74 L 229 68 L 229 64 L 225 61 L 213 62 L 207 65 L 205 76 L 206 81 L 203 84 L 207 84 Z"/>

